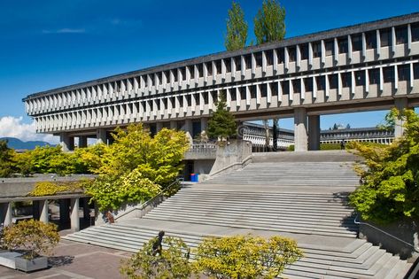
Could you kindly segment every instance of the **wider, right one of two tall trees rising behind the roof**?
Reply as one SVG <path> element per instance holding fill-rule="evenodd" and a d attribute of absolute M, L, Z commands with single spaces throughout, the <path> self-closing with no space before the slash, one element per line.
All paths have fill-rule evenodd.
<path fill-rule="evenodd" d="M 264 0 L 254 18 L 254 35 L 258 44 L 283 40 L 285 9 L 276 0 Z"/>

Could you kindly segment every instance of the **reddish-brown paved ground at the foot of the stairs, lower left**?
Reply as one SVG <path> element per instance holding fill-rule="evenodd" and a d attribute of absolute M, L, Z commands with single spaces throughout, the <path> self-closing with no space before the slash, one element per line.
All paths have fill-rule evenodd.
<path fill-rule="evenodd" d="M 26 274 L 0 266 L 0 279 L 118 279 L 122 278 L 120 261 L 130 256 L 129 252 L 61 240 L 50 257 L 50 268 Z"/>

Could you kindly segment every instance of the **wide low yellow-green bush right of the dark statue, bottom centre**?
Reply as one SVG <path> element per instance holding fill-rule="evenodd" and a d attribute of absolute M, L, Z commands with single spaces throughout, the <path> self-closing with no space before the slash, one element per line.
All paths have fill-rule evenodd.
<path fill-rule="evenodd" d="M 275 278 L 299 260 L 297 243 L 282 236 L 207 237 L 198 245 L 194 267 L 211 278 Z"/>

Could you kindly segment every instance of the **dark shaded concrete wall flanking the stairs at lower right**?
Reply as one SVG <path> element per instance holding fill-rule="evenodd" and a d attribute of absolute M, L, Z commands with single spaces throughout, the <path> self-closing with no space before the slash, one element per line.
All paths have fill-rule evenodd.
<path fill-rule="evenodd" d="M 408 244 L 413 245 L 415 249 L 392 236 L 371 228 L 368 224 L 400 238 Z M 388 252 L 399 254 L 403 260 L 408 259 L 413 262 L 419 257 L 418 231 L 419 221 L 406 219 L 389 225 L 377 225 L 372 222 L 366 222 L 360 225 L 360 238 L 365 238 L 372 244 L 381 245 Z M 415 252 L 415 250 L 418 252 Z"/>

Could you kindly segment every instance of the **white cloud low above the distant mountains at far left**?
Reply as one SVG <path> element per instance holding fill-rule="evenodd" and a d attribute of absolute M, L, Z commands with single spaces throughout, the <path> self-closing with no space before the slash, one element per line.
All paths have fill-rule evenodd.
<path fill-rule="evenodd" d="M 22 123 L 22 117 L 4 116 L 0 118 L 0 137 L 17 137 L 20 140 L 44 141 L 56 144 L 59 142 L 58 136 L 48 134 L 36 134 L 35 120 L 32 123 Z"/>

